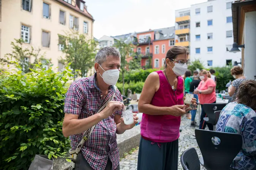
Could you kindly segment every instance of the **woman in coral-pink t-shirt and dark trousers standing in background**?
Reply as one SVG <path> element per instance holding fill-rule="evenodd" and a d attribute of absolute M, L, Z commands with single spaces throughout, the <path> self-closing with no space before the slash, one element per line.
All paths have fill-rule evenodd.
<path fill-rule="evenodd" d="M 205 129 L 207 124 L 209 130 L 213 130 L 213 125 L 204 121 L 204 117 L 207 117 L 204 111 L 204 104 L 216 103 L 216 83 L 211 79 L 209 71 L 202 70 L 199 75 L 201 82 L 199 83 L 198 88 L 194 90 L 194 94 L 198 94 L 198 99 L 202 108 L 199 128 Z"/>

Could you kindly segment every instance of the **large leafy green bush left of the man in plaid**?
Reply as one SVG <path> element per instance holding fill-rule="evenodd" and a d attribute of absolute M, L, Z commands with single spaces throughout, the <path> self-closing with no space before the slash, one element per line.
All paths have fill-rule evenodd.
<path fill-rule="evenodd" d="M 70 148 L 62 122 L 71 70 L 17 68 L 0 75 L 0 162 L 8 170 L 28 169 L 35 154 L 57 158 Z"/>

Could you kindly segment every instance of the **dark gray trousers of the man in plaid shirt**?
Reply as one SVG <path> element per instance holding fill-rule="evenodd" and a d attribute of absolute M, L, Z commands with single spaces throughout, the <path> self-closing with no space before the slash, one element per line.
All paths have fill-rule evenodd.
<path fill-rule="evenodd" d="M 90 167 L 82 152 L 79 152 L 79 154 L 77 155 L 75 170 L 94 170 L 92 167 Z M 112 162 L 110 161 L 110 159 L 107 160 L 105 170 L 112 170 Z M 120 170 L 119 165 L 115 170 Z"/>

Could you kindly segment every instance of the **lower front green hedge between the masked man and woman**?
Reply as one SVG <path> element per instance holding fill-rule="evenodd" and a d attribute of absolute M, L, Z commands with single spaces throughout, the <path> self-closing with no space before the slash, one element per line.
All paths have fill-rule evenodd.
<path fill-rule="evenodd" d="M 117 88 L 119 91 L 123 90 L 123 83 L 117 83 Z M 132 93 L 141 93 L 142 88 L 144 86 L 144 82 L 130 82 L 130 83 L 125 83 L 125 95 L 127 96 L 127 89 L 130 88 Z"/>

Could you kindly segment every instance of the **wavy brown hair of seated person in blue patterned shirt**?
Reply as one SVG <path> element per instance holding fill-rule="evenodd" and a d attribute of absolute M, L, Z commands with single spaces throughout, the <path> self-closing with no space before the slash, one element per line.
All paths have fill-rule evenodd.
<path fill-rule="evenodd" d="M 237 103 L 247 105 L 256 110 L 256 81 L 245 80 L 239 85 Z"/>

